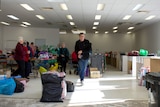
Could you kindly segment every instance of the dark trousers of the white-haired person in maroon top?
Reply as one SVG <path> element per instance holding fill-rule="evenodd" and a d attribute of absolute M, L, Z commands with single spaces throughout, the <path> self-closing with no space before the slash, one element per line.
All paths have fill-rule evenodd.
<path fill-rule="evenodd" d="M 24 60 L 16 60 L 18 64 L 18 68 L 16 72 L 22 76 L 22 78 L 25 78 L 25 61 Z"/>

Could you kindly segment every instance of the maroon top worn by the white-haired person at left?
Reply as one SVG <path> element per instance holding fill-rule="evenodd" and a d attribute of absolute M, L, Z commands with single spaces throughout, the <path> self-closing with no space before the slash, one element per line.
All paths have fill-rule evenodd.
<path fill-rule="evenodd" d="M 15 60 L 24 60 L 25 58 L 25 51 L 23 48 L 23 44 L 20 44 L 19 42 L 16 45 L 16 49 L 15 49 L 15 56 L 14 59 Z"/>

